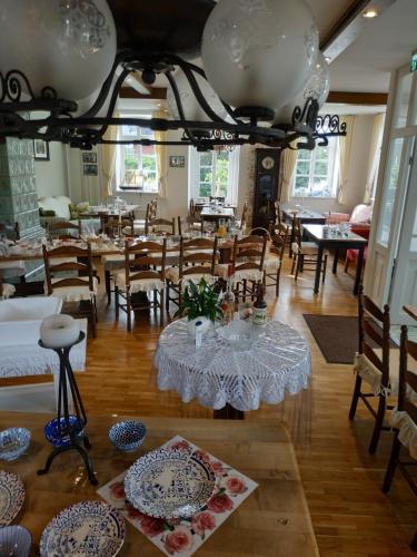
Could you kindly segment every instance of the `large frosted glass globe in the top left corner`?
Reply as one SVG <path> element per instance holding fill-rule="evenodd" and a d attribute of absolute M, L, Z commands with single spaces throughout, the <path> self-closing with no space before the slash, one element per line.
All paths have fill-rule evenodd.
<path fill-rule="evenodd" d="M 34 96 L 48 86 L 67 100 L 86 98 L 102 85 L 115 56 L 106 0 L 1 0 L 0 71 L 22 71 Z"/>

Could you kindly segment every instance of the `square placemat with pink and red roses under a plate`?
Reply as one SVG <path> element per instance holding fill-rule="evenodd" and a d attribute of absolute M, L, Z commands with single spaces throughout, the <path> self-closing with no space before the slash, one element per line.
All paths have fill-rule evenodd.
<path fill-rule="evenodd" d="M 187 519 L 163 520 L 146 516 L 135 509 L 125 495 L 123 479 L 127 470 L 97 492 L 119 509 L 123 517 L 165 555 L 189 557 L 249 497 L 258 483 L 180 436 L 176 436 L 162 447 L 196 451 L 216 473 L 215 494 L 195 516 Z"/>

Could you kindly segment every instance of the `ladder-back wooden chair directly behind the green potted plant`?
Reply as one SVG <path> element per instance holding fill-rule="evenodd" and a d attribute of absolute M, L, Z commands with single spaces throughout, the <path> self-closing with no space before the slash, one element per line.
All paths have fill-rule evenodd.
<path fill-rule="evenodd" d="M 182 291 L 192 281 L 199 283 L 205 278 L 208 283 L 217 280 L 216 264 L 219 260 L 217 250 L 218 238 L 180 240 L 180 256 L 178 266 L 167 270 L 167 313 L 169 303 L 180 305 Z M 170 292 L 175 295 L 171 296 Z"/>

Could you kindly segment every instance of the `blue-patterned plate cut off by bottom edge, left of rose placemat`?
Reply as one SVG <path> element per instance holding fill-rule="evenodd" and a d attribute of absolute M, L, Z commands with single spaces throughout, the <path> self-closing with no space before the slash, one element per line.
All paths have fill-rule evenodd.
<path fill-rule="evenodd" d="M 125 541 L 125 519 L 102 501 L 67 507 L 43 530 L 41 557 L 115 557 Z"/>

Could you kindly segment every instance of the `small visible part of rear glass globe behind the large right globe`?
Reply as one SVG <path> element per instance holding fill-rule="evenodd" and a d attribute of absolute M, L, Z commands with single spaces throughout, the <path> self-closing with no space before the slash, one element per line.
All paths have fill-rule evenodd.
<path fill-rule="evenodd" d="M 275 116 L 275 124 L 290 124 L 292 120 L 292 113 L 296 106 L 301 109 L 306 100 L 311 97 L 318 101 L 319 108 L 326 102 L 330 90 L 330 71 L 329 65 L 321 52 L 318 53 L 317 62 L 302 90 L 282 108 L 278 110 Z"/>

